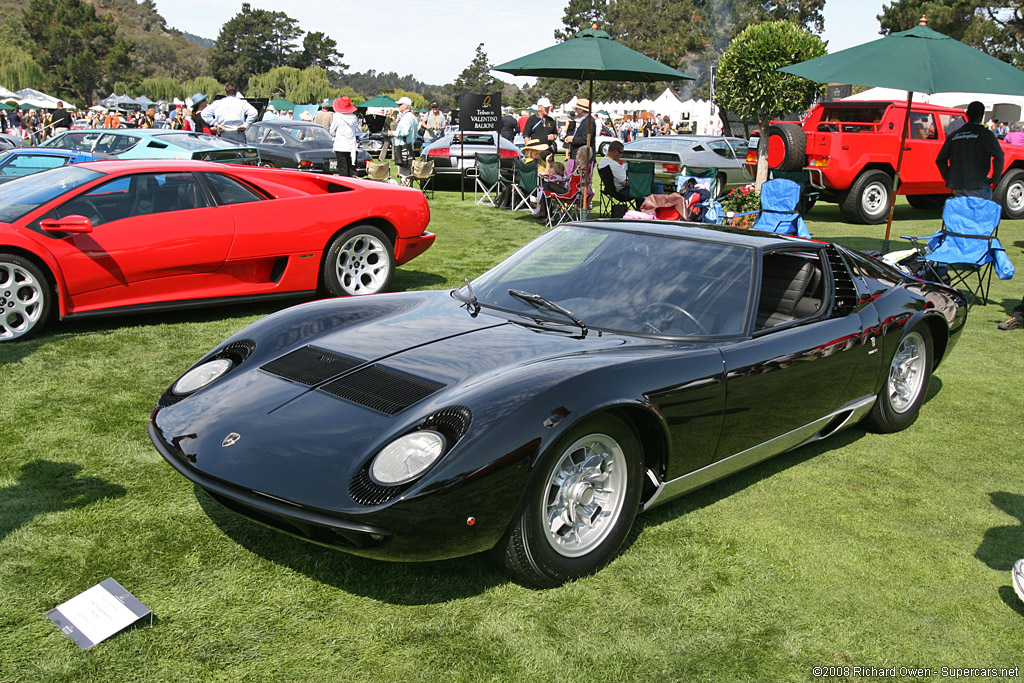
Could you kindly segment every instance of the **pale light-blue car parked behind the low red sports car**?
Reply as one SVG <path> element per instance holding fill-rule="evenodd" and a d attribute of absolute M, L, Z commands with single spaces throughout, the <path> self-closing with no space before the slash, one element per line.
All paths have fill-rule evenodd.
<path fill-rule="evenodd" d="M 76 150 L 117 159 L 194 159 L 226 164 L 259 164 L 256 147 L 213 135 L 160 128 L 70 130 L 43 142 L 45 147 Z"/>

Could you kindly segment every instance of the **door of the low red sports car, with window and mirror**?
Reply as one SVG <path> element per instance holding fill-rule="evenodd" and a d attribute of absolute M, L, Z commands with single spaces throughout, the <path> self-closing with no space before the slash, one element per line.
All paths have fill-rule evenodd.
<path fill-rule="evenodd" d="M 122 299 L 136 303 L 131 287 L 137 283 L 216 270 L 234 234 L 230 212 L 210 206 L 191 173 L 120 176 L 42 218 L 74 214 L 88 217 L 92 231 L 54 239 L 48 247 L 72 299 L 94 293 L 86 297 L 90 308 Z"/>

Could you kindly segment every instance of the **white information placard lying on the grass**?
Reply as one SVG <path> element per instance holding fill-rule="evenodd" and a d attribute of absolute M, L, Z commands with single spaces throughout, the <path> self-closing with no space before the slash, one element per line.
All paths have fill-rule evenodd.
<path fill-rule="evenodd" d="M 114 579 L 96 584 L 46 614 L 82 649 L 138 624 L 153 611 Z"/>

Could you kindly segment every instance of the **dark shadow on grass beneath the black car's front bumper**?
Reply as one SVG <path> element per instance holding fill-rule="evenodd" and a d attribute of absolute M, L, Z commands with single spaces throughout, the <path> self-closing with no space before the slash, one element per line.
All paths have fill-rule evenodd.
<path fill-rule="evenodd" d="M 424 605 L 479 595 L 509 583 L 483 554 L 433 562 L 387 562 L 350 555 L 268 528 L 227 510 L 195 487 L 207 516 L 232 541 L 265 560 L 374 600 Z"/>

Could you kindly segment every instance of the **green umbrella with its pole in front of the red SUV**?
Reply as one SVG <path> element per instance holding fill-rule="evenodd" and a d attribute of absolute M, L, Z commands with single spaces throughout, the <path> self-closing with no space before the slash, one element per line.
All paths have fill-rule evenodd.
<path fill-rule="evenodd" d="M 958 40 L 933 31 L 923 16 L 921 25 L 863 45 L 840 50 L 779 69 L 816 83 L 850 83 L 906 90 L 906 115 L 900 133 L 896 177 L 889 197 L 889 220 L 886 223 L 885 250 L 889 248 L 893 209 L 899 188 L 910 123 L 910 104 L 914 91 L 984 92 L 1002 95 L 1024 94 L 1024 72 Z"/>

